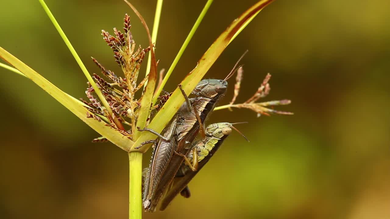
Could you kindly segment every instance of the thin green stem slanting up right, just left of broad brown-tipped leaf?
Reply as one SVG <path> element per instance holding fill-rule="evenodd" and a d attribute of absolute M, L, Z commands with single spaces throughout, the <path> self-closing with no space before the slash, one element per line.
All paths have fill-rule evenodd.
<path fill-rule="evenodd" d="M 157 98 L 160 95 L 161 91 L 164 88 L 164 85 L 167 83 L 169 76 L 172 74 L 172 71 L 175 69 L 177 62 L 179 62 L 179 59 L 184 53 L 184 50 L 186 50 L 188 43 L 190 43 L 193 35 L 195 34 L 195 31 L 198 29 L 200 22 L 202 22 L 204 16 L 206 15 L 207 10 L 209 9 L 211 3 L 213 3 L 213 0 L 208 0 L 206 2 L 206 5 L 204 5 L 202 12 L 200 12 L 198 19 L 195 21 L 195 24 L 192 26 L 190 33 L 188 34 L 186 40 L 184 41 L 183 45 L 181 46 L 179 52 L 177 53 L 175 59 L 172 62 L 172 65 L 169 67 L 167 74 L 165 75 L 163 82 L 161 83 L 160 87 L 158 88 L 156 95 L 153 97 L 152 106 L 156 104 Z"/>

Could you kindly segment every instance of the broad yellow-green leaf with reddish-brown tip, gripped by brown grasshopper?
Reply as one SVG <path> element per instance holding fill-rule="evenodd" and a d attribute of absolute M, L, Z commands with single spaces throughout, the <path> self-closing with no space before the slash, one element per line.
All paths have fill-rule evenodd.
<path fill-rule="evenodd" d="M 255 5 L 246 10 L 241 14 L 237 19 L 235 19 L 230 26 L 213 42 L 206 53 L 198 61 L 197 67 L 193 69 L 186 78 L 181 82 L 183 89 L 186 94 L 195 88 L 197 83 L 203 78 L 206 72 L 210 69 L 211 65 L 214 64 L 216 59 L 221 55 L 222 51 L 229 45 L 229 43 L 245 28 L 246 25 L 254 19 L 254 17 L 259 14 L 259 12 L 269 5 L 273 0 L 261 0 Z M 184 102 L 184 97 L 181 94 L 179 89 L 176 89 L 164 106 L 153 118 L 152 122 L 148 125 L 148 128 L 153 129 L 154 131 L 161 132 L 165 125 L 172 119 L 175 115 L 177 109 Z M 142 142 L 155 139 L 156 136 L 151 133 L 144 133 L 140 138 L 135 142 L 134 147 L 139 146 Z M 133 149 L 133 148 L 132 148 Z M 140 148 L 141 151 L 147 150 L 147 147 Z"/>

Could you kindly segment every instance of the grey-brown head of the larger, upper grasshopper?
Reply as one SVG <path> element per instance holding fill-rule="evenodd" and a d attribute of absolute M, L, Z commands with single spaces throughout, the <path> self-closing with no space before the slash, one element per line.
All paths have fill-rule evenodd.
<path fill-rule="evenodd" d="M 227 90 L 227 81 L 219 79 L 204 79 L 200 81 L 193 93 L 198 96 L 218 100 Z"/>

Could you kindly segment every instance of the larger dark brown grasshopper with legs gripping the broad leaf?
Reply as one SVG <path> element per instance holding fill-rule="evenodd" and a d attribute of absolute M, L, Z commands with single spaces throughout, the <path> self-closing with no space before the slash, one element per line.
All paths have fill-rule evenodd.
<path fill-rule="evenodd" d="M 145 177 L 146 182 L 143 195 L 145 210 L 153 212 L 156 209 L 159 200 L 167 191 L 181 164 L 185 161 L 186 155 L 191 150 L 191 143 L 200 130 L 202 137 L 205 137 L 203 123 L 207 115 L 213 111 L 219 99 L 225 94 L 227 90 L 226 80 L 234 74 L 241 58 L 239 58 L 225 79 L 204 79 L 200 81 L 191 92 L 196 95 L 194 98 L 188 99 L 181 85 L 179 85 L 186 101 L 170 124 L 165 127 L 162 134 L 148 128 L 140 130 L 152 132 L 160 138 L 158 141 L 151 140 L 143 143 L 153 142 L 156 145 L 148 174 Z M 197 153 L 194 151 L 193 154 L 195 157 L 192 160 L 192 164 L 187 162 L 188 160 L 186 164 L 191 167 L 191 170 L 195 171 L 198 165 Z"/>

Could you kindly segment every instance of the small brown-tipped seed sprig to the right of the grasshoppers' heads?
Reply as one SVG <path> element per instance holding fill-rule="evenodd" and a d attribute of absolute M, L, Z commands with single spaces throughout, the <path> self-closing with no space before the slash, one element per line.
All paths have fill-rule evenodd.
<path fill-rule="evenodd" d="M 261 115 L 270 115 L 270 114 L 284 114 L 284 115 L 293 115 L 294 113 L 291 112 L 285 112 L 285 111 L 278 111 L 272 108 L 267 108 L 269 106 L 278 106 L 278 105 L 287 105 L 290 104 L 291 101 L 284 99 L 279 101 L 268 101 L 268 102 L 256 102 L 260 98 L 264 98 L 269 94 L 269 91 L 271 90 L 271 87 L 269 86 L 269 79 L 271 79 L 271 74 L 267 74 L 264 80 L 262 81 L 259 88 L 257 88 L 257 91 L 250 97 L 248 100 L 246 100 L 243 103 L 234 104 L 236 101 L 236 98 L 239 94 L 240 88 L 241 88 L 241 81 L 243 79 L 243 68 L 239 67 L 237 70 L 237 76 L 236 76 L 236 85 L 234 86 L 234 95 L 232 100 L 228 105 L 220 106 L 217 109 L 224 109 L 224 108 L 246 108 L 250 109 L 252 111 L 255 111 L 257 113 L 257 117 Z"/>

